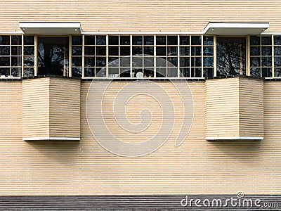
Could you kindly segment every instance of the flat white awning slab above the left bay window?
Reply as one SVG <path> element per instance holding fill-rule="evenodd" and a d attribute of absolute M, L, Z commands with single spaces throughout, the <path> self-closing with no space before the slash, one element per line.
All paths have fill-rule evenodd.
<path fill-rule="evenodd" d="M 81 34 L 80 23 L 20 22 L 19 25 L 20 25 L 20 29 L 25 34 L 42 34 L 42 35 Z"/>

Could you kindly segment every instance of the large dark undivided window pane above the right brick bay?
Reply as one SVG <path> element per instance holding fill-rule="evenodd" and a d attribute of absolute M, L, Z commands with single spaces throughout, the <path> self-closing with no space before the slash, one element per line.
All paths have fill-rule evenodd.
<path fill-rule="evenodd" d="M 246 74 L 246 38 L 217 38 L 217 76 Z"/>

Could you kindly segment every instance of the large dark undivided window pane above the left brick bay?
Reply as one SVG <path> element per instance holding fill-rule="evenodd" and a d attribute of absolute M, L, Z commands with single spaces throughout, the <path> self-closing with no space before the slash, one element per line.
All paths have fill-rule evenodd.
<path fill-rule="evenodd" d="M 68 37 L 38 37 L 38 74 L 67 75 Z"/>

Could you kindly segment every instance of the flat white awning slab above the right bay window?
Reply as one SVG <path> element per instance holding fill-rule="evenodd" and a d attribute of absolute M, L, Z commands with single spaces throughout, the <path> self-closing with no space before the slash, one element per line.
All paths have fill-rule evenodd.
<path fill-rule="evenodd" d="M 247 35 L 261 34 L 269 27 L 269 23 L 221 23 L 209 22 L 204 34 Z"/>

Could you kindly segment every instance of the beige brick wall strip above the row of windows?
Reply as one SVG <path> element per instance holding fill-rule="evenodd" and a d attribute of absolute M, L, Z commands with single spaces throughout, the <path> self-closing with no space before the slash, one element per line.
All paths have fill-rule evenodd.
<path fill-rule="evenodd" d="M 91 32 L 200 32 L 209 21 L 270 22 L 281 31 L 279 1 L 44 1 L 5 0 L 0 31 L 20 31 L 19 21 L 79 21 Z"/>

